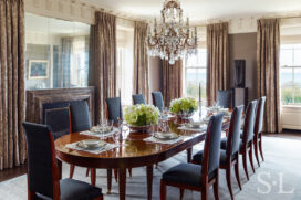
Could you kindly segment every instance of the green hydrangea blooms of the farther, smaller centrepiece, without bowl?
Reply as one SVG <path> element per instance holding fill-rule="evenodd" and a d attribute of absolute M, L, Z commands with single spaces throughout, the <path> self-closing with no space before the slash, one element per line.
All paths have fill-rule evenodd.
<path fill-rule="evenodd" d="M 197 109 L 198 105 L 195 98 L 176 98 L 170 102 L 170 110 L 175 114 L 194 113 Z"/>

